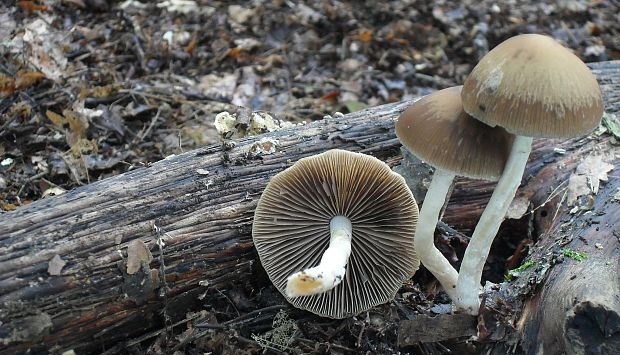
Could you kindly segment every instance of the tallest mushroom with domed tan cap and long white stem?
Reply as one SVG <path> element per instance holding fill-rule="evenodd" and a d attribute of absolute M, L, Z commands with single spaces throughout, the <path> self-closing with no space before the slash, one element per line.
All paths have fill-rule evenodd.
<path fill-rule="evenodd" d="M 461 98 L 471 116 L 516 135 L 459 270 L 457 303 L 477 314 L 482 269 L 521 183 L 532 137 L 589 133 L 600 123 L 603 99 L 588 67 L 552 38 L 538 34 L 512 37 L 491 50 L 465 80 Z"/>

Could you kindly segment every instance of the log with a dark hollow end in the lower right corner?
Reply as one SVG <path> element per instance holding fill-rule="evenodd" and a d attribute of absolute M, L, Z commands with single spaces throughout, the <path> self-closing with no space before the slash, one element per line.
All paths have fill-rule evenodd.
<path fill-rule="evenodd" d="M 620 353 L 620 146 L 587 147 L 614 157 L 615 173 L 596 199 L 545 206 L 559 213 L 542 226 L 529 257 L 536 265 L 518 283 L 533 294 L 517 322 L 527 353 Z"/>

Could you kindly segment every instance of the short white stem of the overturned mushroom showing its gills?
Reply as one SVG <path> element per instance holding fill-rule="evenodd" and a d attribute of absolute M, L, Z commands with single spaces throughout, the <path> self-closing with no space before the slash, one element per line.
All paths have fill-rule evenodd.
<path fill-rule="evenodd" d="M 323 293 L 338 286 L 347 271 L 351 256 L 351 221 L 344 216 L 336 216 L 329 222 L 329 247 L 321 257 L 318 266 L 296 272 L 286 280 L 288 297 L 309 296 Z"/>

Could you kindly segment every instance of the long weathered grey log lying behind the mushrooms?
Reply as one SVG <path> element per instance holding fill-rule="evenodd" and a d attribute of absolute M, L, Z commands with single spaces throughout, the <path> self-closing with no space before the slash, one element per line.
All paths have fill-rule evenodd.
<path fill-rule="evenodd" d="M 612 112 L 619 66 L 594 67 Z M 0 216 L 0 353 L 103 351 L 186 319 L 221 289 L 264 287 L 250 230 L 268 179 L 332 148 L 397 164 L 393 124 L 406 106 L 194 150 Z M 556 147 L 579 158 L 575 144 L 589 141 L 537 141 L 525 176 L 559 169 Z M 275 153 L 261 153 L 273 145 Z M 444 221 L 471 229 L 492 186 L 460 180 Z M 536 188 L 531 179 L 526 186 Z M 537 193 L 548 191 L 527 197 Z"/>

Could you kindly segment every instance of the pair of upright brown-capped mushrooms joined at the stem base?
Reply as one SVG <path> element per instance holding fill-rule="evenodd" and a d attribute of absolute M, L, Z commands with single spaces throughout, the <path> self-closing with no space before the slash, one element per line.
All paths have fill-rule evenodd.
<path fill-rule="evenodd" d="M 603 101 L 588 67 L 552 38 L 537 34 L 510 38 L 483 57 L 460 89 L 462 103 L 454 97 L 457 88 L 448 90 L 452 92 L 450 98 L 444 98 L 447 94 L 439 91 L 414 103 L 399 118 L 396 132 L 403 145 L 438 168 L 424 199 L 415 237 L 422 264 L 442 283 L 457 308 L 478 314 L 484 263 L 521 183 L 532 137 L 570 138 L 589 133 L 600 123 Z M 445 139 L 430 141 L 429 136 L 439 134 L 433 132 L 445 134 L 445 128 L 439 127 L 445 125 L 446 117 L 452 117 L 456 125 L 463 127 L 470 127 L 470 121 L 477 120 L 482 130 L 475 131 L 475 135 L 449 130 Z M 432 127 L 430 131 L 428 127 Z M 513 136 L 505 136 L 504 130 Z M 468 140 L 472 136 L 473 143 Z M 492 168 L 496 165 L 490 163 L 492 156 L 496 156 L 495 162 L 501 167 L 499 174 L 497 168 Z M 451 165 L 463 169 L 466 164 L 478 164 L 475 159 L 486 160 L 482 164 L 493 174 L 475 176 Z M 432 245 L 439 208 L 454 174 L 490 180 L 497 180 L 499 175 L 458 274 Z M 435 180 L 439 180 L 437 185 L 441 188 L 435 187 Z"/>

